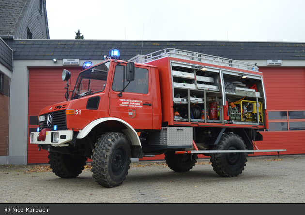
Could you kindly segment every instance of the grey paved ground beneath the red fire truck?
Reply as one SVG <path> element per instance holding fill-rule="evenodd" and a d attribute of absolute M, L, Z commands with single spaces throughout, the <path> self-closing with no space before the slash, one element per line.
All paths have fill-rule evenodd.
<path fill-rule="evenodd" d="M 305 155 L 248 157 L 234 178 L 209 159 L 178 173 L 164 161 L 132 162 L 121 186 L 94 182 L 90 166 L 61 179 L 47 165 L 0 165 L 0 203 L 304 203 Z"/>

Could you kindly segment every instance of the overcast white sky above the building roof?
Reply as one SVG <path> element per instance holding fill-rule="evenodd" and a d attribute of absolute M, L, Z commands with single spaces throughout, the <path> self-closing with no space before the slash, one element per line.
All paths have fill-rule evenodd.
<path fill-rule="evenodd" d="M 305 0 L 46 0 L 50 39 L 305 42 Z"/>

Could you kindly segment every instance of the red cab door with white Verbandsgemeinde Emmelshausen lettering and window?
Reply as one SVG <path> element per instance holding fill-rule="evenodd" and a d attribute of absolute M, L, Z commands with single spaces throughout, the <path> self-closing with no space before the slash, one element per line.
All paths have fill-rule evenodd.
<path fill-rule="evenodd" d="M 126 64 L 117 64 L 112 77 L 109 99 L 109 116 L 126 121 L 134 129 L 152 129 L 150 67 L 136 66 L 135 79 L 129 82 L 126 81 Z"/>

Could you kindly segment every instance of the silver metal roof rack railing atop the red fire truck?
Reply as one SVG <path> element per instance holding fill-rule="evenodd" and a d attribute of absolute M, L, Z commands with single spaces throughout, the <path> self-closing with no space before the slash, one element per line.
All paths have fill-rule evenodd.
<path fill-rule="evenodd" d="M 154 61 L 154 60 L 157 60 L 157 59 L 160 59 L 163 57 L 168 57 L 168 56 L 186 59 L 186 60 L 198 61 L 198 62 L 202 62 L 202 63 L 215 64 L 215 65 L 220 65 L 220 66 L 229 66 L 229 67 L 244 69 L 244 70 L 248 70 L 248 71 L 256 71 L 256 72 L 258 71 L 258 67 L 256 66 L 256 64 L 250 64 L 250 63 L 246 63 L 243 61 L 237 61 L 237 60 L 232 60 L 232 59 L 227 59 L 227 58 L 222 58 L 222 57 L 216 57 L 213 55 L 201 54 L 201 53 L 193 52 L 193 51 L 178 50 L 178 49 L 173 49 L 173 48 L 159 50 L 159 51 L 147 54 L 147 55 L 138 54 L 137 56 L 129 59 L 128 61 L 145 64 L 147 62 Z"/>

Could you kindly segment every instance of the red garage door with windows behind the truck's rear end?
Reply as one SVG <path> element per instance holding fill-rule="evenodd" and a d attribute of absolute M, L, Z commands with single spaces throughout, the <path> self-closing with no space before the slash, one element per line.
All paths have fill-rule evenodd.
<path fill-rule="evenodd" d="M 261 132 L 263 141 L 258 142 L 258 148 L 287 150 L 280 154 L 305 154 L 305 69 L 259 71 L 264 74 L 269 129 Z"/>

